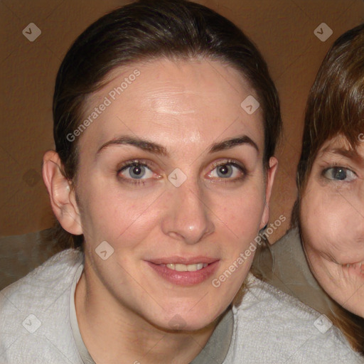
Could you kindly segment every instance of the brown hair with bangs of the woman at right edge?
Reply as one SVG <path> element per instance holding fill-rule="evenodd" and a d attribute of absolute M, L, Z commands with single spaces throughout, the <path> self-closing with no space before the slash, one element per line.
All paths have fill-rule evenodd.
<path fill-rule="evenodd" d="M 355 150 L 360 141 L 364 141 L 361 133 L 364 133 L 364 23 L 333 43 L 309 92 L 296 174 L 299 196 L 291 216 L 291 226 L 298 225 L 300 235 L 301 199 L 321 146 L 333 137 L 342 136 Z M 364 319 L 336 302 L 330 319 L 343 331 L 353 348 L 364 354 Z"/>

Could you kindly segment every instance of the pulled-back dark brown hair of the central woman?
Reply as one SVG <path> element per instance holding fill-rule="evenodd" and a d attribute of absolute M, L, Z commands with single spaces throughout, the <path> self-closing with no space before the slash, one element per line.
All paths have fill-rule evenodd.
<path fill-rule="evenodd" d="M 77 141 L 66 136 L 80 125 L 87 97 L 105 84 L 111 70 L 156 58 L 197 57 L 231 65 L 257 92 L 267 166 L 282 121 L 277 90 L 259 50 L 231 21 L 205 6 L 184 0 L 140 0 L 92 23 L 60 65 L 53 97 L 53 136 L 64 176 L 73 182 L 77 177 Z M 55 250 L 82 250 L 83 235 L 66 232 L 58 221 L 51 235 Z"/>

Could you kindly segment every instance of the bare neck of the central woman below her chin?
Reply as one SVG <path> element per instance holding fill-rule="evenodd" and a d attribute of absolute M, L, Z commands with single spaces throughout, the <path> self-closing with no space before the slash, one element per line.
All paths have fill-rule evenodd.
<path fill-rule="evenodd" d="M 75 309 L 82 340 L 97 364 L 190 363 L 218 323 L 216 319 L 198 331 L 166 331 L 124 307 L 95 282 L 97 277 L 85 266 L 75 291 Z"/>

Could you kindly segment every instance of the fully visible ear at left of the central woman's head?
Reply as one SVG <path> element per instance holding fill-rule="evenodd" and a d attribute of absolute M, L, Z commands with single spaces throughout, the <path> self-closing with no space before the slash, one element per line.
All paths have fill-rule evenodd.
<path fill-rule="evenodd" d="M 43 156 L 43 181 L 47 187 L 55 217 L 62 228 L 74 235 L 82 234 L 80 210 L 72 183 L 63 175 L 58 153 L 46 151 Z"/>

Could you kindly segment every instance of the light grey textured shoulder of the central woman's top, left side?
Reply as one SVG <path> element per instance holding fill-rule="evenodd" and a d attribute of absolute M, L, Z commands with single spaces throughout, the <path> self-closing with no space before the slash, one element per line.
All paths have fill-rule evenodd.
<path fill-rule="evenodd" d="M 64 250 L 0 291 L 1 363 L 34 363 L 40 353 L 37 363 L 72 358 L 70 289 L 82 260 L 79 250 Z"/>

